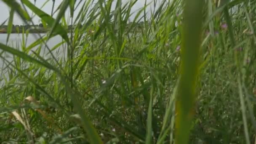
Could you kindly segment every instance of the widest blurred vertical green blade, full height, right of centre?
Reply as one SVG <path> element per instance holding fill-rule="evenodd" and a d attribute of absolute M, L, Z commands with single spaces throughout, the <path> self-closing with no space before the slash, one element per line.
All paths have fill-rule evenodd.
<path fill-rule="evenodd" d="M 203 0 L 184 0 L 181 35 L 180 81 L 176 100 L 175 143 L 188 144 L 194 115 L 196 81 L 199 70 Z"/>

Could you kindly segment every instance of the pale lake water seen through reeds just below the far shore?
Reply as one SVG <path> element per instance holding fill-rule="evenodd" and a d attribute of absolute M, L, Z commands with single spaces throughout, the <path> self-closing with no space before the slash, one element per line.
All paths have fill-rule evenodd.
<path fill-rule="evenodd" d="M 25 42 L 25 47 L 28 47 L 29 45 L 31 45 L 32 43 L 34 43 L 35 41 L 40 39 L 40 36 L 43 37 L 46 34 L 11 34 L 8 40 L 8 46 L 12 47 L 12 48 L 16 48 L 21 50 L 22 47 L 22 42 L 23 42 L 23 38 L 24 38 L 24 42 Z M 0 34 L 0 43 L 6 44 L 6 40 L 7 40 L 7 34 Z M 46 45 L 48 46 L 48 48 L 53 48 L 55 45 L 61 43 L 62 38 L 57 35 L 55 37 L 52 37 L 50 40 L 48 40 L 46 42 Z M 35 51 L 40 45 L 35 46 L 35 48 L 32 48 L 33 51 Z M 47 58 L 50 55 L 48 54 L 48 50 L 46 48 L 45 45 L 41 45 L 42 49 L 40 52 L 40 56 Z M 1 51 L 1 50 L 0 50 Z M 64 56 L 65 55 L 65 51 L 66 51 L 66 45 L 63 44 L 61 45 L 59 48 L 57 48 L 55 51 L 53 51 L 53 54 L 57 57 L 59 56 Z M 10 60 L 10 57 L 12 57 L 10 54 L 5 53 L 4 54 L 5 57 L 8 57 L 8 60 Z M 0 59 L 0 67 L 3 65 L 3 59 Z"/>

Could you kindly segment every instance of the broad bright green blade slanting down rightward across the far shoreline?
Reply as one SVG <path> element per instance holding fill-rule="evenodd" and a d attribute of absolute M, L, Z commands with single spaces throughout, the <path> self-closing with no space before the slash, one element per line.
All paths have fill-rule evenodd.
<path fill-rule="evenodd" d="M 52 26 L 55 19 L 49 16 L 47 13 L 41 11 L 35 5 L 33 5 L 29 0 L 21 0 L 31 11 L 33 11 L 37 16 L 39 16 L 43 21 L 45 21 L 48 25 Z M 56 24 L 56 28 L 53 29 L 53 32 L 56 32 L 60 35 L 66 42 L 69 44 L 69 37 L 67 35 L 66 29 L 64 29 L 61 24 Z"/>

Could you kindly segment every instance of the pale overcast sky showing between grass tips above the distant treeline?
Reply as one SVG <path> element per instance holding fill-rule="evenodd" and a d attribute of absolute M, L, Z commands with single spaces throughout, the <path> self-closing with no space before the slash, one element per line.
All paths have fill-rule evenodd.
<path fill-rule="evenodd" d="M 17 0 L 17 1 L 19 1 L 19 0 Z M 32 3 L 34 3 L 34 0 L 30 0 L 30 1 Z M 45 3 L 45 1 L 46 0 L 36 0 L 36 6 L 38 8 L 41 8 L 43 6 L 43 4 Z M 80 0 L 77 0 L 77 2 L 78 1 L 80 1 Z M 122 0 L 122 1 L 123 1 L 123 3 L 125 3 L 125 2 L 127 2 L 129 0 Z M 152 0 L 147 0 L 147 1 L 149 3 Z M 160 1 L 162 1 L 162 0 L 157 0 L 157 5 L 159 5 Z M 55 0 L 54 9 L 56 9 L 61 2 L 62 2 L 62 0 Z M 139 8 L 143 7 L 144 3 L 145 3 L 145 0 L 138 0 L 138 2 L 133 6 L 132 12 L 137 11 Z M 51 15 L 52 5 L 53 5 L 52 0 L 49 0 L 49 2 L 46 3 L 46 5 L 44 5 L 43 8 L 41 8 L 41 10 L 43 10 L 44 12 L 46 12 L 46 13 Z M 113 3 L 113 6 L 115 6 L 115 2 Z M 149 10 L 149 8 L 148 8 L 148 10 Z M 10 9 L 8 8 L 8 6 L 5 5 L 5 3 L 3 3 L 2 0 L 0 0 L 0 24 L 2 24 L 6 19 L 8 19 L 9 11 L 10 11 Z M 77 11 L 75 11 L 75 16 L 77 15 L 78 11 L 79 11 L 79 6 L 77 8 Z M 29 12 L 29 15 L 31 16 L 31 11 L 28 10 L 28 12 Z M 67 12 L 66 17 L 68 16 L 68 13 L 69 12 Z M 56 15 L 57 15 L 57 13 L 54 16 L 56 16 Z M 39 24 L 40 23 L 39 17 L 34 17 L 33 22 L 35 24 Z M 13 19 L 13 24 L 22 25 L 23 21 L 21 21 L 19 16 L 15 15 L 14 19 Z"/>

